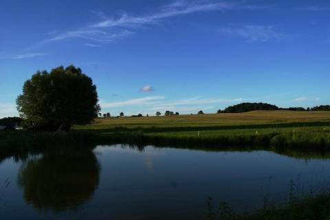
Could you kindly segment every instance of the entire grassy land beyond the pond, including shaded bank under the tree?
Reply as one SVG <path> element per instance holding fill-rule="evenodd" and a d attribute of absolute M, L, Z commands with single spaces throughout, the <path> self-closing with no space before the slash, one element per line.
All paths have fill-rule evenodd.
<path fill-rule="evenodd" d="M 0 131 L 0 156 L 54 146 L 129 143 L 190 149 L 327 150 L 330 112 L 254 111 L 97 119 L 68 134 Z"/>

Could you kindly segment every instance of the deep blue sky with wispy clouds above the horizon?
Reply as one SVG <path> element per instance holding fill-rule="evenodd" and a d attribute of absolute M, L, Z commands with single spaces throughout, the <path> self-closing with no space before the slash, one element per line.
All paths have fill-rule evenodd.
<path fill-rule="evenodd" d="M 329 1 L 0 0 L 0 118 L 38 70 L 74 64 L 102 113 L 330 104 Z"/>

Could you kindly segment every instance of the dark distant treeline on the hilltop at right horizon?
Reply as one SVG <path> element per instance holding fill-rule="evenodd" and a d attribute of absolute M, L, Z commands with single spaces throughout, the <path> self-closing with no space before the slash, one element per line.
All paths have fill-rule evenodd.
<path fill-rule="evenodd" d="M 290 111 L 330 111 L 330 106 L 316 106 L 313 108 L 303 107 L 290 107 L 290 108 L 278 108 L 275 105 L 269 103 L 249 103 L 244 102 L 234 106 L 228 106 L 224 110 L 218 110 L 217 113 L 240 113 L 240 112 L 251 112 L 256 110 L 290 110 Z"/>

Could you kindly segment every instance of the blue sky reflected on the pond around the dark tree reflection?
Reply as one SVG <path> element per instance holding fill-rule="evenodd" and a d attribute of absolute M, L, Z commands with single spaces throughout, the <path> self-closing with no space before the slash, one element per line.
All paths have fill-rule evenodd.
<path fill-rule="evenodd" d="M 76 212 L 56 216 L 203 219 L 208 197 L 217 204 L 228 201 L 238 210 L 255 208 L 267 193 L 275 199 L 283 197 L 290 180 L 309 191 L 310 185 L 329 181 L 330 173 L 329 160 L 298 160 L 267 151 L 208 152 L 148 146 L 141 152 L 115 145 L 96 147 L 94 153 L 102 167 L 94 197 Z M 23 203 L 22 192 L 15 185 L 17 167 L 12 160 L 0 164 L 0 181 L 5 181 L 3 175 L 11 180 L 3 197 L 10 205 L 4 212 L 0 210 L 0 218 L 14 215 L 19 219 L 14 212 L 19 208 L 34 219 L 40 214 Z"/>

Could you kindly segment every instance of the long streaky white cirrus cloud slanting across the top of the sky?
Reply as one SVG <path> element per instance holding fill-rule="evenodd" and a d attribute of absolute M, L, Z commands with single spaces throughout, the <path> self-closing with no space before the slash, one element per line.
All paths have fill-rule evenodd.
<path fill-rule="evenodd" d="M 98 42 L 112 42 L 113 40 L 126 38 L 135 34 L 136 29 L 162 23 L 165 19 L 175 16 L 184 16 L 197 12 L 209 12 L 216 10 L 257 10 L 264 7 L 253 5 L 237 5 L 232 1 L 183 1 L 178 0 L 169 5 L 159 8 L 158 12 L 142 16 L 130 16 L 126 12 L 120 14 L 118 18 L 110 18 L 103 12 L 92 11 L 101 21 L 80 28 L 74 31 L 68 31 L 58 34 L 43 43 L 66 38 L 85 38 Z"/>

